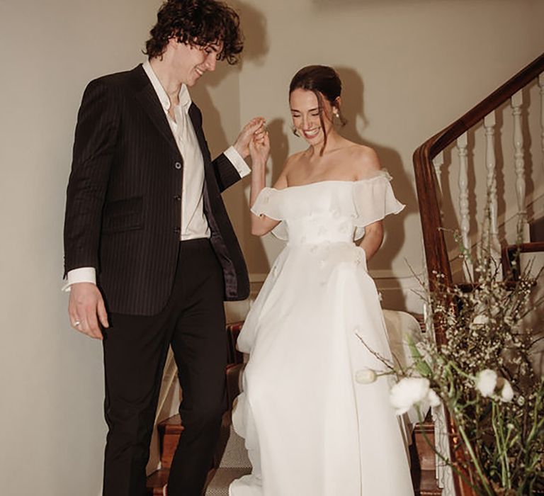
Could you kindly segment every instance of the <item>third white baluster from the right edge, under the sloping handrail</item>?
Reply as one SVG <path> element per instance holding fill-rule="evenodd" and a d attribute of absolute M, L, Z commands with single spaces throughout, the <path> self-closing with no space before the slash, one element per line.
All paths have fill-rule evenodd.
<path fill-rule="evenodd" d="M 495 111 L 484 118 L 485 129 L 485 166 L 487 167 L 487 201 L 489 201 L 489 245 L 494 261 L 500 263 L 501 245 L 497 227 L 497 160 L 495 158 Z"/>

